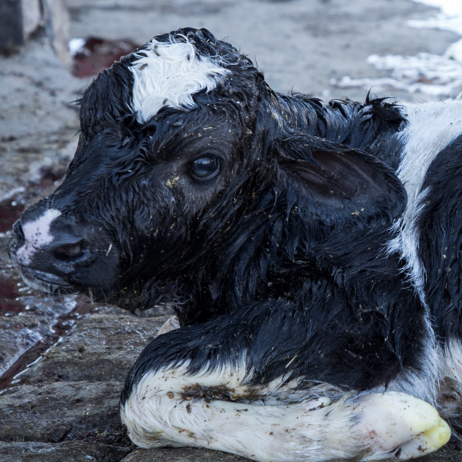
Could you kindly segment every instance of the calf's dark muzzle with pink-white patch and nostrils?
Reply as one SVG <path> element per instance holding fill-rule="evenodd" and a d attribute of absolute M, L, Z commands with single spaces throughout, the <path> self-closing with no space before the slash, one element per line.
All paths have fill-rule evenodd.
<path fill-rule="evenodd" d="M 117 251 L 101 228 L 39 202 L 13 225 L 10 255 L 24 280 L 45 291 L 108 288 Z M 110 249 L 110 251 L 108 251 Z"/>

